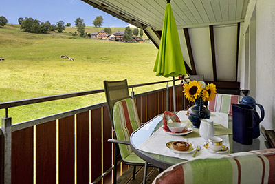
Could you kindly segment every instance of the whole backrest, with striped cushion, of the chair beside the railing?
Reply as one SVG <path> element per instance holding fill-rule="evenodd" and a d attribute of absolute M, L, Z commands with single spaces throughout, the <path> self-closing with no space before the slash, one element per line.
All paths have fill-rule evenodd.
<path fill-rule="evenodd" d="M 104 81 L 104 90 L 110 119 L 113 126 L 114 138 L 120 141 L 129 141 L 133 131 L 140 127 L 140 119 L 137 114 L 135 102 L 129 96 L 127 80 Z M 132 150 L 130 145 L 119 144 L 122 160 Z"/>

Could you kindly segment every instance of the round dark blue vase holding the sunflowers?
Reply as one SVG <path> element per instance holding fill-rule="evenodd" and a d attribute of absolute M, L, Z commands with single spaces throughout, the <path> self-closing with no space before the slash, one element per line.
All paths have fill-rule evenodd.
<path fill-rule="evenodd" d="M 197 98 L 195 105 L 190 107 L 187 112 L 188 119 L 192 122 L 192 127 L 199 128 L 201 119 L 210 119 L 210 111 L 204 106 L 203 99 Z"/>

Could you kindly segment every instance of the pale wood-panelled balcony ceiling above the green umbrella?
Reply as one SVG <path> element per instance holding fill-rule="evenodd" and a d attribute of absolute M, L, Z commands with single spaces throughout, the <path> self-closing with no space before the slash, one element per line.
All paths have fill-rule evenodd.
<path fill-rule="evenodd" d="M 146 25 L 153 30 L 162 30 L 166 0 L 83 1 L 134 25 Z M 245 17 L 248 1 L 171 0 L 171 6 L 178 28 L 191 28 L 241 22 Z"/>

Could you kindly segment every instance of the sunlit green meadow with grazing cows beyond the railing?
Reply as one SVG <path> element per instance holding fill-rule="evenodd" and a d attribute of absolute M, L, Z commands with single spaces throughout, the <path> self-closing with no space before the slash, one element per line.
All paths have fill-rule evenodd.
<path fill-rule="evenodd" d="M 101 28 L 102 29 L 102 28 Z M 93 32 L 93 31 L 91 31 Z M 74 61 L 60 59 L 66 54 Z M 103 81 L 129 85 L 166 80 L 155 76 L 157 48 L 151 43 L 119 43 L 72 37 L 69 33 L 32 34 L 19 25 L 0 28 L 0 102 L 102 89 Z M 165 88 L 135 88 L 135 93 Z M 12 123 L 36 119 L 105 101 L 104 94 L 9 108 Z M 0 110 L 5 116 L 5 110 Z"/>

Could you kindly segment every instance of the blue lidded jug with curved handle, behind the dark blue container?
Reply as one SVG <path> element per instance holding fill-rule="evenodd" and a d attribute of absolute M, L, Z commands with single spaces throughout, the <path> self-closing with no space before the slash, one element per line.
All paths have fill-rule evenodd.
<path fill-rule="evenodd" d="M 261 118 L 260 118 L 260 123 L 263 121 L 265 117 L 265 110 L 263 109 L 263 105 L 256 103 L 255 99 L 252 96 L 245 96 L 243 99 L 239 102 L 242 105 L 249 105 L 254 110 L 256 110 L 256 105 L 260 108 L 261 111 Z M 255 114 L 254 116 L 259 116 L 259 114 Z M 254 117 L 256 118 L 256 117 Z M 260 136 L 260 127 L 259 125 L 253 128 L 253 139 L 257 138 Z"/>

